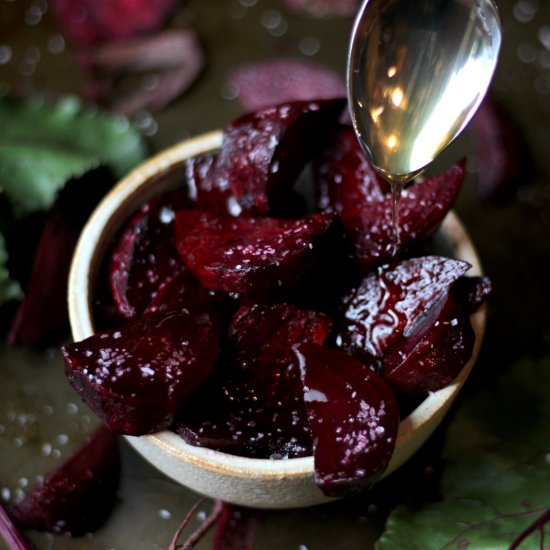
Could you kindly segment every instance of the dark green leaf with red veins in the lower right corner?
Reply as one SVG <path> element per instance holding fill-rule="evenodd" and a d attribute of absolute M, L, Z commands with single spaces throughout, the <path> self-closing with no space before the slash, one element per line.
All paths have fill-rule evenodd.
<path fill-rule="evenodd" d="M 550 506 L 549 388 L 550 358 L 526 360 L 465 402 L 447 432 L 442 500 L 397 508 L 377 549 L 508 550 Z M 521 550 L 543 536 L 533 530 Z"/>

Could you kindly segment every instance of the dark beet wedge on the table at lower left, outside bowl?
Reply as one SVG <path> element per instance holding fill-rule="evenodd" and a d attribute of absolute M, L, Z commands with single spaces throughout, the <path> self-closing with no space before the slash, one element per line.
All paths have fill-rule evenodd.
<path fill-rule="evenodd" d="M 108 519 L 119 481 L 118 442 L 101 427 L 18 503 L 13 515 L 22 525 L 38 531 L 84 535 Z"/>

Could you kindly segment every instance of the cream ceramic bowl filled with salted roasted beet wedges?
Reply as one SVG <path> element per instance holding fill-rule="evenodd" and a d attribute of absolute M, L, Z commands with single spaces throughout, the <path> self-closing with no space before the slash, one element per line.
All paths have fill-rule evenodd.
<path fill-rule="evenodd" d="M 260 109 L 124 178 L 73 260 L 66 374 L 111 431 L 210 497 L 353 495 L 441 422 L 490 281 L 451 212 L 464 162 L 401 197 L 344 99 Z"/>

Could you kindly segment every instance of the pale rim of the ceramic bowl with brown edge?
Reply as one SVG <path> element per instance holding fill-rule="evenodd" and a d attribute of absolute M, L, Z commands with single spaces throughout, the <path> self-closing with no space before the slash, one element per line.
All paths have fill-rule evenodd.
<path fill-rule="evenodd" d="M 139 201 L 135 200 L 134 193 L 147 186 L 148 182 L 151 184 L 155 177 L 181 165 L 186 159 L 218 149 L 222 144 L 222 136 L 220 130 L 211 131 L 185 139 L 159 152 L 122 178 L 96 207 L 80 235 L 69 272 L 69 320 L 75 341 L 83 340 L 94 333 L 91 312 L 92 283 L 95 281 L 110 237 L 120 228 L 130 212 L 135 210 L 137 204 L 144 202 L 143 197 Z M 126 215 L 118 216 L 120 212 L 125 212 Z M 442 230 L 450 238 L 457 257 L 466 259 L 472 265 L 468 275 L 482 275 L 481 262 L 474 245 L 453 211 L 447 214 L 442 223 Z M 442 418 L 468 378 L 483 340 L 486 323 L 485 306 L 471 316 L 471 322 L 476 338 L 470 360 L 451 384 L 429 394 L 407 417 L 401 420 L 396 449 L 410 444 L 417 430 L 431 422 L 433 414 L 440 415 Z M 437 406 L 438 404 L 442 407 Z M 425 439 L 430 434 L 431 431 Z M 139 447 L 138 440 L 146 440 L 173 458 L 195 464 L 212 473 L 231 474 L 234 477 L 257 475 L 262 479 L 313 476 L 313 456 L 274 460 L 231 455 L 190 445 L 170 430 L 144 436 L 125 437 L 136 448 Z M 407 459 L 408 457 L 399 460 L 394 453 L 384 476 L 389 475 Z M 156 466 L 159 467 L 159 465 Z"/>

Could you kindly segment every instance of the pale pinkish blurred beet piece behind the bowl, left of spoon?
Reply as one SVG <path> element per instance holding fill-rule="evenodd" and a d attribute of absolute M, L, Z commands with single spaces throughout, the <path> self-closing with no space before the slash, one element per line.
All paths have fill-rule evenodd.
<path fill-rule="evenodd" d="M 243 65 L 230 73 L 229 82 L 248 111 L 346 95 L 341 74 L 301 59 L 276 58 Z"/>

